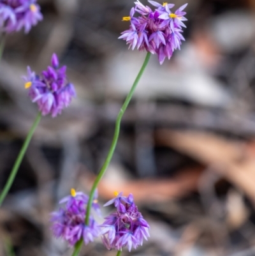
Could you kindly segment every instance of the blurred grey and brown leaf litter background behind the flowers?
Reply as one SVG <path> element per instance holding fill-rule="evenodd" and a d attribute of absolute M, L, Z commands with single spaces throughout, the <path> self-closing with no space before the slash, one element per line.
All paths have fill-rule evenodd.
<path fill-rule="evenodd" d="M 120 106 L 145 52 L 120 32 L 131 0 L 41 0 L 43 22 L 10 34 L 0 64 L 0 188 L 37 113 L 20 77 L 55 52 L 77 98 L 43 117 L 0 209 L 0 255 L 71 255 L 50 231 L 70 188 L 89 193 Z M 142 1 L 147 4 L 146 1 Z M 186 41 L 170 61 L 152 56 L 124 115 L 99 184 L 133 193 L 150 239 L 125 255 L 255 255 L 255 1 L 172 0 L 186 8 Z M 175 9 L 173 9 L 175 10 Z M 111 207 L 102 209 L 106 216 Z M 103 218 L 98 219 L 99 223 Z M 80 255 L 116 255 L 100 239 Z"/>

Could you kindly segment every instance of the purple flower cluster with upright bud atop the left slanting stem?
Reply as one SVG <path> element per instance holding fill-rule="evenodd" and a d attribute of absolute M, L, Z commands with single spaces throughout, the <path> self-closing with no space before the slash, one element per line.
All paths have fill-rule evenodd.
<path fill-rule="evenodd" d="M 71 99 L 76 95 L 73 84 L 67 82 L 66 66 L 59 67 L 57 55 L 52 55 L 52 66 L 36 75 L 27 67 L 25 88 L 29 88 L 29 97 L 38 104 L 43 116 L 51 114 L 52 117 L 61 114 L 64 107 L 68 107 Z"/>

